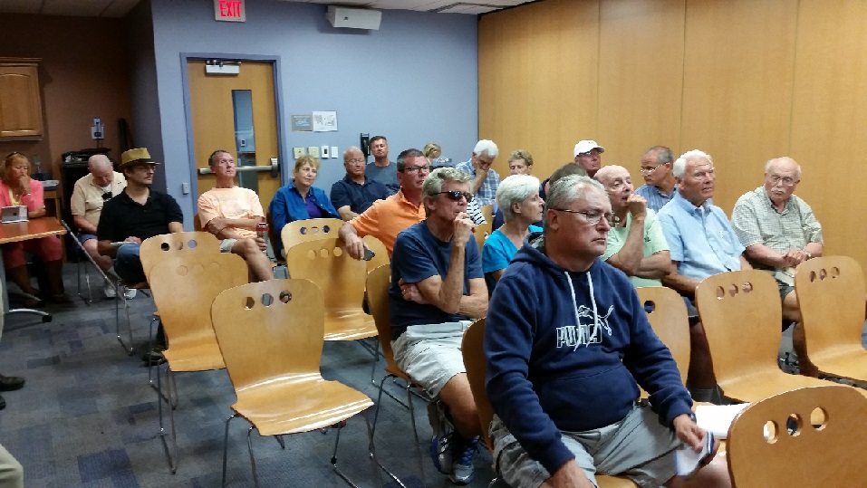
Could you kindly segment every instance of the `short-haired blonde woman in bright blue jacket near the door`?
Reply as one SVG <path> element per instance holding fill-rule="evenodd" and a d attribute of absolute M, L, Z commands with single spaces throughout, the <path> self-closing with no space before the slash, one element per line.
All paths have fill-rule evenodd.
<path fill-rule="evenodd" d="M 280 233 L 286 224 L 308 218 L 340 218 L 323 189 L 313 187 L 318 171 L 319 158 L 304 155 L 295 159 L 293 180 L 277 190 L 268 206 L 276 235 L 276 242 L 271 244 L 277 256 L 283 255 Z"/>

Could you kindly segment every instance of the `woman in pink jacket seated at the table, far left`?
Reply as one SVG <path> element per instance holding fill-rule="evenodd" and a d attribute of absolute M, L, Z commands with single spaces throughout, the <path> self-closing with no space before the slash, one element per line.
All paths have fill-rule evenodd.
<path fill-rule="evenodd" d="M 0 206 L 27 206 L 30 219 L 45 216 L 43 184 L 30 179 L 30 161 L 20 152 L 13 152 L 3 163 L 3 177 L 0 178 Z M 53 217 L 52 217 L 53 218 Z M 3 265 L 6 274 L 12 278 L 21 291 L 31 295 L 24 301 L 25 307 L 42 304 L 37 298 L 41 292 L 34 290 L 30 274 L 24 262 L 24 251 L 42 258 L 45 273 L 48 275 L 49 299 L 55 303 L 65 303 L 69 298 L 63 294 L 63 244 L 56 235 L 41 239 L 28 239 L 17 243 L 3 244 Z"/>

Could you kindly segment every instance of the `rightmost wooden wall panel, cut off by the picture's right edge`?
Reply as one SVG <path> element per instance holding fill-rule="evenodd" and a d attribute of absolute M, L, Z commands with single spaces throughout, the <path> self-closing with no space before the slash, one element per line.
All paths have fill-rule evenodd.
<path fill-rule="evenodd" d="M 867 2 L 801 0 L 790 154 L 825 254 L 867 265 Z"/>

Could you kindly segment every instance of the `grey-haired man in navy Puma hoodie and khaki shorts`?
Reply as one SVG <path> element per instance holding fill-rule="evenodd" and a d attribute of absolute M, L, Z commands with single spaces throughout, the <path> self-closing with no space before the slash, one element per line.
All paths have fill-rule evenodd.
<path fill-rule="evenodd" d="M 631 283 L 598 259 L 612 220 L 598 182 L 564 177 L 548 193 L 544 232 L 496 285 L 484 347 L 497 472 L 515 488 L 592 487 L 595 474 L 729 486 L 721 459 L 676 476 L 675 451 L 700 451 L 708 434 Z"/>

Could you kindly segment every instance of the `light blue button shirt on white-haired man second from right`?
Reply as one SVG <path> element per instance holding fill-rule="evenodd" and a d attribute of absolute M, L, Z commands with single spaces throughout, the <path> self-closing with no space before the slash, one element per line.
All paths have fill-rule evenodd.
<path fill-rule="evenodd" d="M 657 215 L 678 274 L 704 280 L 712 274 L 740 270 L 744 246 L 726 214 L 710 200 L 694 206 L 676 194 Z"/>

